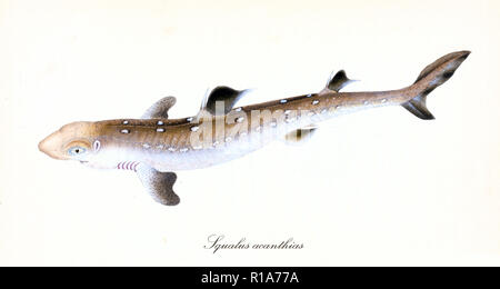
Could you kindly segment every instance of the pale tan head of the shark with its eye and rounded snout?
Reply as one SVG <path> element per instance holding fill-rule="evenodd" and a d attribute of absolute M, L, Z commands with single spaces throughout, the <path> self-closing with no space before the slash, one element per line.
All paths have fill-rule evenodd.
<path fill-rule="evenodd" d="M 78 121 L 54 131 L 38 148 L 54 159 L 88 162 L 99 151 L 100 142 L 92 122 Z"/>

